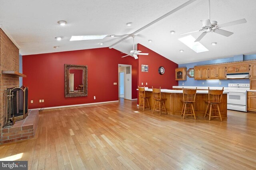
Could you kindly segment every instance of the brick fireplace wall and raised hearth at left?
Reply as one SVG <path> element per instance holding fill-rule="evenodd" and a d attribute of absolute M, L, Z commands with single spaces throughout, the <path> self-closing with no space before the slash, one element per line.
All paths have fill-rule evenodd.
<path fill-rule="evenodd" d="M 0 28 L 0 144 L 34 137 L 38 123 L 38 111 L 31 112 L 26 119 L 17 121 L 12 127 L 3 129 L 5 119 L 4 90 L 19 87 L 19 77 L 2 74 L 2 70 L 19 72 L 19 49 Z"/>

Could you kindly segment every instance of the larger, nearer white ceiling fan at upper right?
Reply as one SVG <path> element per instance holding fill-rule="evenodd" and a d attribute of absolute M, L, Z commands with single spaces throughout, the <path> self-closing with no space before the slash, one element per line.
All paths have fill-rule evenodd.
<path fill-rule="evenodd" d="M 201 20 L 201 22 L 202 22 L 202 29 L 200 29 L 198 31 L 204 31 L 204 32 L 194 42 L 200 41 L 204 37 L 204 35 L 206 35 L 206 33 L 210 33 L 210 32 L 211 33 L 217 33 L 217 34 L 229 37 L 233 33 L 230 32 L 230 31 L 220 29 L 220 27 L 228 27 L 228 26 L 231 26 L 231 25 L 246 23 L 246 20 L 241 19 L 241 20 L 231 21 L 231 22 L 222 23 L 222 24 L 218 25 L 217 21 L 211 21 L 210 20 L 210 0 L 209 0 L 209 19 Z M 180 35 L 194 33 L 194 32 L 198 32 L 198 31 L 192 31 L 192 32 L 183 33 L 183 34 L 180 34 Z"/>

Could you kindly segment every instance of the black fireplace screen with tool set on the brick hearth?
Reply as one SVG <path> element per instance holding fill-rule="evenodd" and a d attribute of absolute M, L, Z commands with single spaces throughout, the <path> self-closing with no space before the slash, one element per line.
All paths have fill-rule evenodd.
<path fill-rule="evenodd" d="M 5 90 L 5 125 L 11 127 L 15 121 L 28 115 L 28 88 L 16 87 Z"/>

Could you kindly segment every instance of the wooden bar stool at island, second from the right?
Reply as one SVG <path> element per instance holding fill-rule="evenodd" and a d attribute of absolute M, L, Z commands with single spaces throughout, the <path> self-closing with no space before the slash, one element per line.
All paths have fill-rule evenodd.
<path fill-rule="evenodd" d="M 194 119 L 196 120 L 196 115 L 193 107 L 193 103 L 196 102 L 196 89 L 184 89 L 184 88 L 182 89 L 183 90 L 183 100 L 182 100 L 183 106 L 182 106 L 180 115 L 181 116 L 183 115 L 183 119 L 185 119 L 185 115 L 191 115 L 191 116 L 194 115 Z M 186 109 L 190 109 L 190 113 L 186 113 Z"/>

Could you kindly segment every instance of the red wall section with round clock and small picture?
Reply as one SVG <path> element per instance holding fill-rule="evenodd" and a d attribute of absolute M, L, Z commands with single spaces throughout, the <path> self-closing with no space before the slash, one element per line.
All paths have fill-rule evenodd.
<path fill-rule="evenodd" d="M 178 86 L 178 81 L 175 80 L 175 68 L 178 64 L 166 59 L 162 55 L 148 49 L 147 47 L 138 44 L 137 49 L 142 51 L 142 53 L 148 53 L 149 55 L 139 55 L 139 74 L 138 74 L 138 84 L 152 88 L 162 89 L 172 89 L 172 86 Z M 148 65 L 148 72 L 141 72 L 141 65 Z M 164 74 L 160 75 L 158 73 L 158 68 L 163 66 L 165 69 Z M 146 85 L 146 82 L 148 85 Z"/>

